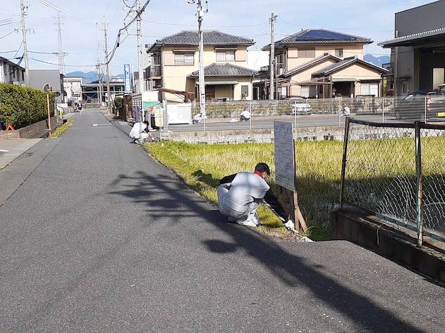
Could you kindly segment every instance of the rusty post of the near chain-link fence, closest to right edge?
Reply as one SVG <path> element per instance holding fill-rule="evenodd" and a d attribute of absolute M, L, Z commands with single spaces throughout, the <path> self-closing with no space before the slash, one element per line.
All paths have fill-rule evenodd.
<path fill-rule="evenodd" d="M 421 132 L 420 121 L 414 123 L 415 153 L 416 153 L 416 223 L 417 223 L 417 245 L 423 244 L 423 180 L 422 180 L 422 155 L 421 155 Z"/>

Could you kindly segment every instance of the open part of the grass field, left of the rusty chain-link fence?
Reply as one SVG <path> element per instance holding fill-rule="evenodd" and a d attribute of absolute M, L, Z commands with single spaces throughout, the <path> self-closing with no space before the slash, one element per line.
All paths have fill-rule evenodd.
<path fill-rule="evenodd" d="M 182 142 L 146 144 L 150 155 L 174 169 L 186 183 L 217 203 L 216 187 L 224 176 L 253 171 L 258 162 L 270 165 L 270 185 L 274 188 L 273 144 L 199 145 Z M 341 142 L 298 142 L 298 196 L 300 208 L 312 227 L 311 237 L 327 238 L 329 212 L 338 201 L 341 171 Z M 259 208 L 261 223 L 282 228 L 282 223 L 266 207 Z M 282 228 L 284 230 L 284 228 Z"/>

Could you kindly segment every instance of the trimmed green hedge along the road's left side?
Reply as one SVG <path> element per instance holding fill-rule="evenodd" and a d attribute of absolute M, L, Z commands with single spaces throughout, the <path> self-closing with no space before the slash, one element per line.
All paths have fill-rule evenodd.
<path fill-rule="evenodd" d="M 49 94 L 49 110 L 54 116 L 55 94 Z M 47 119 L 47 96 L 40 89 L 0 83 L 0 121 L 15 129 Z"/>

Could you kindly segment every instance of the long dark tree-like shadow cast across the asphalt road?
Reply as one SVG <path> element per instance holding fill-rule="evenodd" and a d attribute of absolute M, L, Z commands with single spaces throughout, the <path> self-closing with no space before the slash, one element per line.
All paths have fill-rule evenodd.
<path fill-rule="evenodd" d="M 128 184 L 122 183 L 127 180 Z M 307 262 L 304 257 L 288 253 L 274 239 L 248 228 L 226 223 L 224 216 L 217 210 L 210 210 L 203 198 L 196 196 L 173 175 L 166 177 L 139 171 L 133 176 L 119 175 L 113 182 L 113 185 L 118 184 L 128 188 L 111 193 L 146 205 L 149 223 L 165 217 L 172 221 L 171 228 L 184 228 L 184 218 L 190 217 L 196 217 L 197 221 L 193 223 L 211 223 L 225 232 L 231 241 L 206 240 L 203 245 L 209 251 L 225 255 L 239 249 L 244 250 L 284 284 L 289 287 L 307 287 L 318 300 L 341 312 L 366 332 L 423 332 L 373 300 L 317 271 L 319 266 Z"/>

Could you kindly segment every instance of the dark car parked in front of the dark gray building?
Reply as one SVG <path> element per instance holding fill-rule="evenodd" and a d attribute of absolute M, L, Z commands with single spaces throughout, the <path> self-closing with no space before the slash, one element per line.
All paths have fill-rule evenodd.
<path fill-rule="evenodd" d="M 424 120 L 445 117 L 445 89 L 410 93 L 394 106 L 396 119 Z"/>

